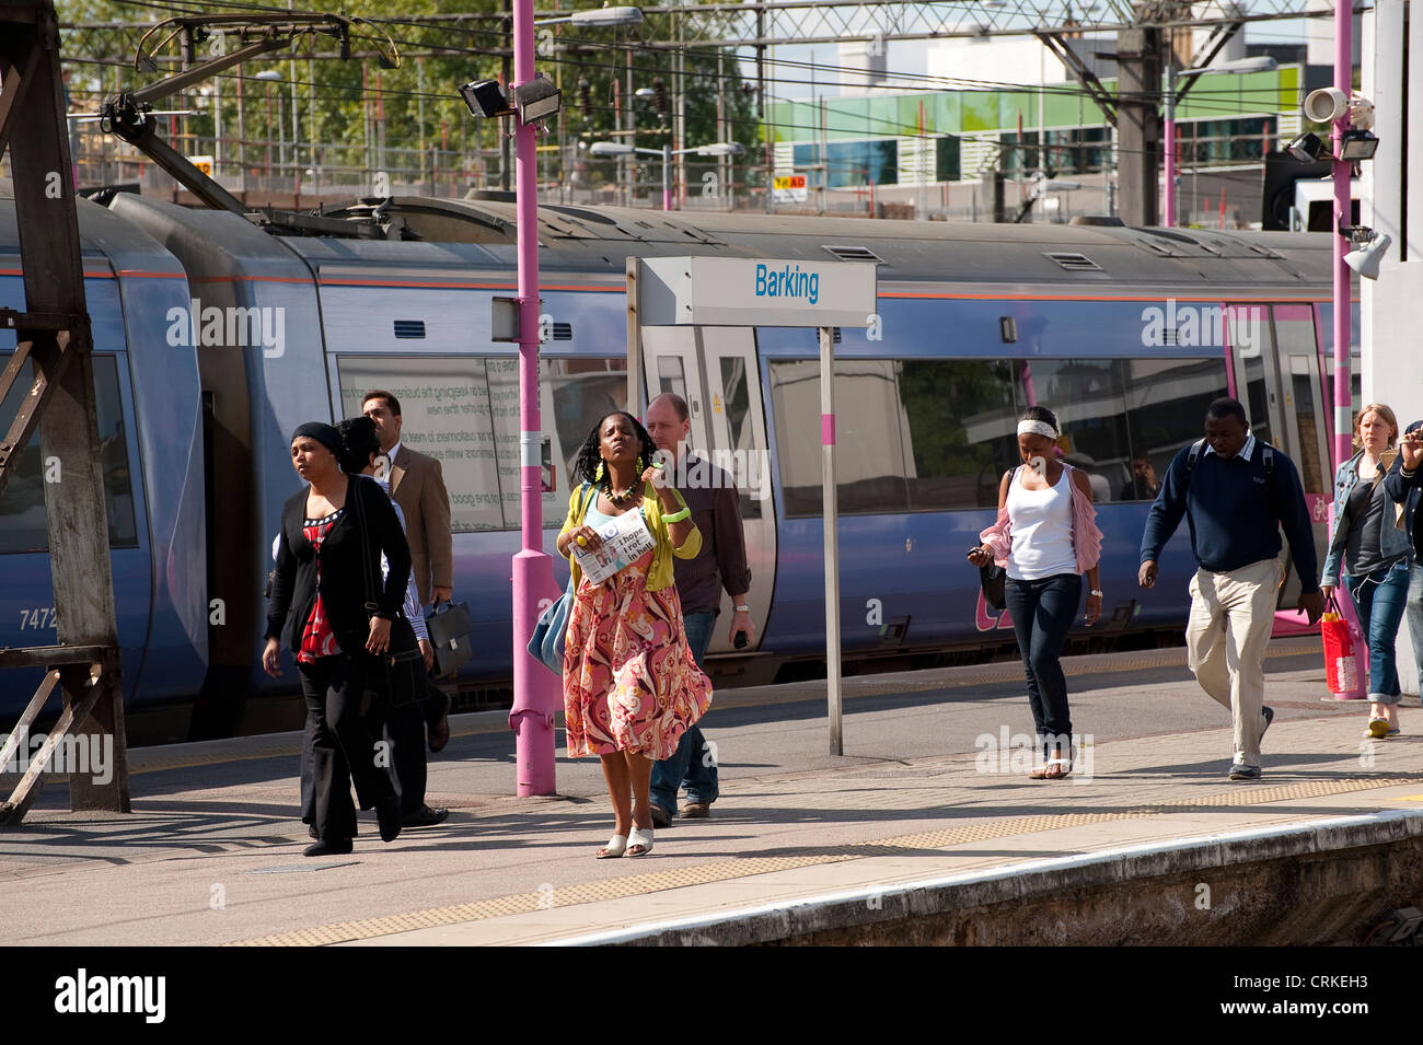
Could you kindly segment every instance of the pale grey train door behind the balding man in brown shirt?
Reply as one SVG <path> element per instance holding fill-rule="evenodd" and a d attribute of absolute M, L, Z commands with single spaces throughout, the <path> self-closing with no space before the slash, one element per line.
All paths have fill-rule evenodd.
<path fill-rule="evenodd" d="M 647 398 L 676 392 L 687 401 L 689 444 L 737 482 L 751 569 L 751 623 L 756 641 L 770 610 L 776 573 L 776 518 L 770 509 L 766 412 L 761 408 L 756 337 L 747 328 L 646 327 L 643 358 Z M 721 593 L 721 616 L 709 653 L 729 653 L 726 627 L 731 600 Z M 744 650 L 743 650 L 744 653 Z"/>

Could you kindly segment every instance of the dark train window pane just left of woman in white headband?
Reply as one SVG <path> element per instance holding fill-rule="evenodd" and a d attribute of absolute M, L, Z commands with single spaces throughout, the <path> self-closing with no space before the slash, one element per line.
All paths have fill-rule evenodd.
<path fill-rule="evenodd" d="M 909 508 L 996 508 L 999 481 L 1017 462 L 1013 364 L 905 360 L 899 365 Z"/>

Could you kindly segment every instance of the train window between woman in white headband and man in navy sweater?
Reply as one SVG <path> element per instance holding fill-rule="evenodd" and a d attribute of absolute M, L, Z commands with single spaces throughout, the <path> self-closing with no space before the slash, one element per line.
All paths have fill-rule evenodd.
<path fill-rule="evenodd" d="M 1228 395 L 1225 361 L 1123 360 L 1131 475 L 1116 500 L 1151 500 L 1171 458 L 1204 434 L 1205 408 Z"/>

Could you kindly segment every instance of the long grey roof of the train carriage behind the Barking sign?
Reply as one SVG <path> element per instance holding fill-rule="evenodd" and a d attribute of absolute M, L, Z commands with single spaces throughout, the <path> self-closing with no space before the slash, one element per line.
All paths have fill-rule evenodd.
<path fill-rule="evenodd" d="M 511 202 L 397 196 L 380 210 L 406 236 L 478 246 L 514 263 L 517 213 Z M 369 212 L 369 202 L 327 210 L 346 216 Z M 881 280 L 892 282 L 1318 289 L 1332 279 L 1333 245 L 1326 233 L 868 220 L 558 203 L 541 205 L 538 216 L 541 269 L 605 270 L 616 279 L 622 279 L 628 257 L 679 254 L 875 262 Z M 316 243 L 292 240 L 303 254 L 326 253 Z M 400 256 L 391 240 L 349 246 L 349 253 L 373 262 Z"/>

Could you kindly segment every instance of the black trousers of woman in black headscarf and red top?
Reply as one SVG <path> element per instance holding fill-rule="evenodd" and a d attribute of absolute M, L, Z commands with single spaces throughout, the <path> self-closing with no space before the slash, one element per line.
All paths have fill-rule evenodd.
<path fill-rule="evenodd" d="M 376 766 L 377 752 L 360 714 L 364 665 L 337 654 L 312 664 L 299 663 L 297 671 L 312 727 L 312 823 L 322 840 L 356 837 L 351 783 L 361 809 L 396 796 L 390 776 Z"/>

